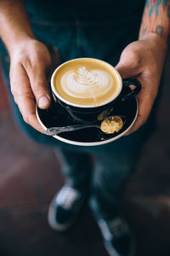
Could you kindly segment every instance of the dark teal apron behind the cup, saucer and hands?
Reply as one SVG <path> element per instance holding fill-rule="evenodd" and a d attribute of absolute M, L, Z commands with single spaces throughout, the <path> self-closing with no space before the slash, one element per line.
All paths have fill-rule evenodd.
<path fill-rule="evenodd" d="M 116 11 L 116 9 L 114 9 L 115 16 L 113 15 L 114 17 L 111 17 L 111 8 L 113 9 L 113 6 L 111 8 L 107 7 L 107 9 L 109 9 L 109 13 L 108 15 L 103 15 L 103 17 L 98 13 L 94 18 L 94 15 L 92 16 L 92 14 L 89 12 L 89 17 L 82 14 L 80 18 L 77 15 L 77 13 L 80 15 L 80 12 L 77 12 L 76 9 L 74 9 L 70 15 L 66 14 L 64 9 L 61 15 L 61 11 L 58 9 L 59 15 L 57 16 L 56 13 L 54 14 L 51 12 L 50 17 L 50 12 L 47 11 L 47 13 L 45 13 L 45 10 L 43 9 L 44 7 L 42 8 L 44 14 L 43 12 L 40 12 L 38 15 L 38 9 L 36 9 L 36 7 L 35 12 L 31 12 L 31 8 L 33 8 L 31 7 L 31 3 L 35 3 L 35 5 L 37 4 L 38 7 L 39 1 L 28 2 L 30 3 L 28 10 L 30 10 L 31 13 L 31 26 L 37 39 L 44 44 L 55 46 L 57 49 L 59 49 L 60 62 L 68 61 L 77 57 L 94 57 L 107 61 L 113 66 L 116 66 L 122 50 L 127 46 L 127 44 L 130 44 L 138 39 L 142 15 L 141 8 L 144 6 L 144 1 L 140 1 L 139 7 L 136 6 L 134 8 L 133 3 L 138 1 L 128 1 L 129 4 L 131 3 L 131 5 L 133 5 L 132 13 L 128 14 L 126 9 L 123 9 L 123 15 L 121 15 L 120 12 L 117 19 L 116 14 L 118 11 Z M 43 2 L 44 1 L 41 1 L 41 3 Z M 50 1 L 48 1 L 47 4 L 49 2 Z M 63 2 L 64 1 L 62 1 L 62 3 Z M 107 2 L 109 3 L 110 1 L 107 0 Z M 124 3 L 125 2 L 127 3 L 127 1 L 124 1 Z M 130 6 L 128 6 L 128 9 L 130 9 Z M 138 12 L 136 10 L 138 10 Z M 102 10 L 100 10 L 100 13 L 103 14 Z M 9 58 L 2 42 L 0 43 L 0 56 L 9 88 Z M 66 143 L 59 142 L 53 137 L 45 136 L 40 132 L 35 131 L 30 125 L 27 125 L 22 119 L 17 105 L 14 103 L 10 90 L 8 90 L 8 92 L 11 108 L 14 113 L 14 119 L 20 126 L 21 130 L 38 143 L 46 143 L 53 146 L 66 147 L 68 149 L 71 148 L 71 150 L 82 149 L 88 152 L 96 149 L 99 151 L 112 150 L 113 152 L 118 150 L 122 152 L 122 154 L 126 154 L 127 152 L 135 152 L 136 149 L 139 148 L 140 144 L 144 141 L 144 137 L 149 134 L 148 127 L 150 127 L 150 122 L 132 135 L 122 137 L 116 142 L 106 145 L 98 147 L 80 147 L 68 145 Z M 146 130 L 147 133 L 145 132 Z"/>

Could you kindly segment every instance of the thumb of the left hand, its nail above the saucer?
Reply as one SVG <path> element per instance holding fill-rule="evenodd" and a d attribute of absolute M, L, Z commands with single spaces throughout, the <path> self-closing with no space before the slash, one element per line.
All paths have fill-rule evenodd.
<path fill-rule="evenodd" d="M 39 108 L 45 109 L 50 105 L 50 95 L 45 67 L 39 65 L 26 70 L 30 79 L 31 90 Z"/>

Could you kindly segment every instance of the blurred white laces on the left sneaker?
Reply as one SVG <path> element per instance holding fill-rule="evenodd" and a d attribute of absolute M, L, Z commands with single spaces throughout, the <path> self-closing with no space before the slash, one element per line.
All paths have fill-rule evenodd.
<path fill-rule="evenodd" d="M 65 209 L 69 209 L 72 203 L 77 201 L 80 196 L 80 193 L 76 189 L 64 187 L 60 190 L 59 195 L 56 198 L 56 202 Z"/>

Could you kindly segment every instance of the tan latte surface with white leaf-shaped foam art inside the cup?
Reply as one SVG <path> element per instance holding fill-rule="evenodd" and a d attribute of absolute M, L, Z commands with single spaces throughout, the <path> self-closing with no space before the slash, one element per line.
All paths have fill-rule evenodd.
<path fill-rule="evenodd" d="M 107 102 L 119 89 L 116 75 L 104 67 L 83 64 L 60 69 L 54 79 L 55 88 L 59 96 L 68 102 L 99 106 Z"/>

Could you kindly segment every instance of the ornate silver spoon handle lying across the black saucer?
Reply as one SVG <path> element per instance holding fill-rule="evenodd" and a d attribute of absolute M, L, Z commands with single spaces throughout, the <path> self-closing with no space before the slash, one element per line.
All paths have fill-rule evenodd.
<path fill-rule="evenodd" d="M 63 126 L 63 127 L 50 127 L 46 130 L 46 135 L 49 136 L 54 136 L 59 134 L 60 132 L 65 132 L 65 131 L 76 131 L 80 129 L 85 129 L 85 128 L 91 128 L 91 127 L 99 127 L 98 125 L 68 125 L 68 126 Z"/>

